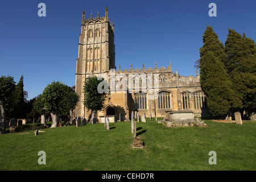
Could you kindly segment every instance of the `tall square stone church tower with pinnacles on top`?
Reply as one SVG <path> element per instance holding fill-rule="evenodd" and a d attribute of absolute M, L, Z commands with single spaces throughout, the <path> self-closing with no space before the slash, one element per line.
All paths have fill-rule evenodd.
<path fill-rule="evenodd" d="M 76 92 L 80 101 L 76 106 L 75 115 L 84 117 L 83 85 L 90 75 L 115 69 L 114 23 L 110 22 L 108 7 L 105 16 L 85 19 L 82 12 L 81 34 L 79 41 L 79 57 L 76 63 Z"/>

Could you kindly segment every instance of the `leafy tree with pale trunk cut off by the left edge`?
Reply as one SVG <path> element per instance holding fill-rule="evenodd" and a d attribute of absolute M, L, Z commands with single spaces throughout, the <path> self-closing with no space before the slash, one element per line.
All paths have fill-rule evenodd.
<path fill-rule="evenodd" d="M 14 100 L 15 81 L 11 76 L 0 77 L 0 133 L 5 133 L 6 111 Z"/>

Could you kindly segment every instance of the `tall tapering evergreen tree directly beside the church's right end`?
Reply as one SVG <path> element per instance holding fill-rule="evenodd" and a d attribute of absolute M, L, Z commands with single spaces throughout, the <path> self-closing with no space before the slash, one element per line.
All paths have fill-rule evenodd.
<path fill-rule="evenodd" d="M 233 90 L 225 68 L 227 59 L 224 45 L 213 28 L 207 26 L 200 48 L 200 84 L 207 96 L 207 105 L 213 117 L 222 118 L 232 107 Z"/>

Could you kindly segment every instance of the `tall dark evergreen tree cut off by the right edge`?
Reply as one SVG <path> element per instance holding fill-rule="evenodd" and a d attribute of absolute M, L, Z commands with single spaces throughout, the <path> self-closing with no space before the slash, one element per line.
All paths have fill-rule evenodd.
<path fill-rule="evenodd" d="M 228 59 L 225 62 L 237 98 L 243 109 L 255 111 L 256 102 L 256 46 L 254 40 L 246 38 L 229 28 L 225 42 Z"/>

